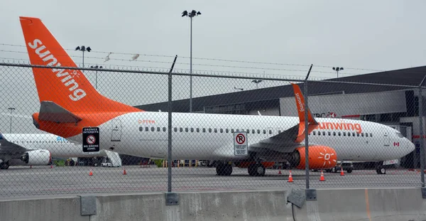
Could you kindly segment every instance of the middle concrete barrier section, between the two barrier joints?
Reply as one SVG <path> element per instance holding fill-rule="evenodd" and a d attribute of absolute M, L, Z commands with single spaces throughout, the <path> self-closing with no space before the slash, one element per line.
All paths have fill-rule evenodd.
<path fill-rule="evenodd" d="M 94 220 L 293 220 L 287 191 L 178 193 L 179 205 L 165 195 L 97 196 Z"/>

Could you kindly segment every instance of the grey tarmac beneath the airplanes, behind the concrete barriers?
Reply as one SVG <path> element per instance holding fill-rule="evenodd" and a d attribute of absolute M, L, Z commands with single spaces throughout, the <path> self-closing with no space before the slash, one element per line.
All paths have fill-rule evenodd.
<path fill-rule="evenodd" d="M 124 175 L 124 170 L 126 175 Z M 92 171 L 92 176 L 89 176 Z M 87 195 L 97 193 L 165 192 L 168 188 L 168 168 L 122 166 L 118 168 L 89 166 L 11 166 L 1 170 L 0 199 L 28 198 L 40 195 Z M 247 168 L 236 168 L 231 176 L 217 176 L 215 168 L 180 167 L 172 169 L 172 191 L 206 190 L 267 190 L 306 188 L 304 170 L 292 171 L 293 183 L 288 183 L 288 170 L 267 169 L 266 176 L 251 177 Z M 379 175 L 375 170 L 352 173 L 310 171 L 310 188 L 408 188 L 420 187 L 420 172 L 408 169 L 388 169 Z"/>

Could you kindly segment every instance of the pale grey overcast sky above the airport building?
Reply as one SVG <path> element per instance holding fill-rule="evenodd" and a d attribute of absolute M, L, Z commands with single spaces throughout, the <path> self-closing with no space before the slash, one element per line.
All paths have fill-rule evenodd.
<path fill-rule="evenodd" d="M 339 77 L 425 65 L 426 1 L 12 1 L 0 8 L 0 61 L 28 61 L 19 16 L 40 18 L 82 66 L 77 45 L 92 48 L 84 65 L 144 70 L 190 69 L 204 74 Z M 111 53 L 111 55 L 109 55 Z M 136 60 L 132 56 L 139 54 Z M 105 61 L 109 55 L 109 60 Z M 11 73 L 13 75 L 11 75 Z M 95 73 L 85 72 L 91 82 Z M 167 78 L 98 72 L 99 92 L 126 104 L 165 101 Z M 142 76 L 142 77 L 141 77 Z M 17 114 L 39 108 L 31 70 L 0 67 L 0 109 Z M 18 80 L 17 80 L 18 79 Z M 194 78 L 193 96 L 253 90 L 283 82 Z M 173 98 L 189 97 L 187 78 L 176 77 Z M 24 89 L 24 90 L 23 90 Z M 16 130 L 19 126 L 16 126 Z M 9 130 L 9 117 L 0 131 Z"/>

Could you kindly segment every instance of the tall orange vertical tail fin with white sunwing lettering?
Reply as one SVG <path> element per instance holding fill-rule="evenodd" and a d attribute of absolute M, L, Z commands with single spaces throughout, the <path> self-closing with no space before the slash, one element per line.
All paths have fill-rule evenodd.
<path fill-rule="evenodd" d="M 39 18 L 20 17 L 32 65 L 77 68 Z M 70 112 L 141 112 L 104 97 L 80 70 L 33 68 L 40 102 L 51 101 Z"/>

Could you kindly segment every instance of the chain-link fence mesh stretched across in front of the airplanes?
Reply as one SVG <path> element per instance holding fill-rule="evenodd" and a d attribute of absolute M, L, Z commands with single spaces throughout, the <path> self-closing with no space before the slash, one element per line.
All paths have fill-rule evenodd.
<path fill-rule="evenodd" d="M 75 75 L 48 80 L 65 71 Z M 424 186 L 421 80 L 305 87 L 303 79 L 193 74 L 190 99 L 188 73 L 1 63 L 0 76 L 3 198 Z M 64 90 L 79 102 L 60 98 Z M 83 153 L 88 144 L 99 153 Z"/>

